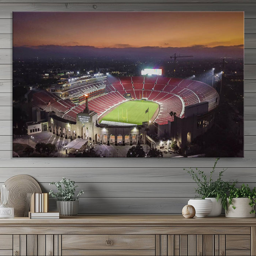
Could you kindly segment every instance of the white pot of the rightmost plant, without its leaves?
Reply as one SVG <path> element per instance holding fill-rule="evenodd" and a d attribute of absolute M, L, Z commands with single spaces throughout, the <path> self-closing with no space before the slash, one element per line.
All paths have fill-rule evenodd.
<path fill-rule="evenodd" d="M 227 199 L 228 201 L 228 199 Z M 228 204 L 228 209 L 225 210 L 225 217 L 230 218 L 253 218 L 255 217 L 255 213 L 250 213 L 254 207 L 249 206 L 250 199 L 249 198 L 233 198 L 232 205 L 236 208 L 234 209 L 232 205 Z"/>

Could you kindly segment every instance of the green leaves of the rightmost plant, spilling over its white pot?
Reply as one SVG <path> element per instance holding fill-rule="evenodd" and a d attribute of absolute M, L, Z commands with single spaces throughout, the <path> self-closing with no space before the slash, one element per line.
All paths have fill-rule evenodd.
<path fill-rule="evenodd" d="M 235 209 L 236 207 L 232 204 L 232 199 L 233 198 L 238 198 L 238 197 L 248 197 L 250 199 L 249 205 L 251 207 L 255 206 L 255 198 L 256 198 L 256 188 L 250 189 L 248 184 L 245 186 L 244 184 L 241 185 L 241 187 L 236 187 L 235 184 L 231 185 L 229 188 L 229 197 L 228 201 L 229 204 L 232 205 L 232 207 Z M 255 213 L 255 210 L 251 210 L 250 213 Z"/>

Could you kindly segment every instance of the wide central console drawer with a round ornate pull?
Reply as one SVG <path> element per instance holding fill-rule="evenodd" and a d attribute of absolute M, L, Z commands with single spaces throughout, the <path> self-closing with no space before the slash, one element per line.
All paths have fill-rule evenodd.
<path fill-rule="evenodd" d="M 155 235 L 62 235 L 62 250 L 155 250 Z"/>

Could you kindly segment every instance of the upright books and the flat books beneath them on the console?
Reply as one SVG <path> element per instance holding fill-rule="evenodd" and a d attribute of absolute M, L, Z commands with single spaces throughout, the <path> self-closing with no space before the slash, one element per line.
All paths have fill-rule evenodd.
<path fill-rule="evenodd" d="M 59 212 L 49 212 L 48 193 L 33 193 L 28 217 L 30 219 L 59 219 Z"/>

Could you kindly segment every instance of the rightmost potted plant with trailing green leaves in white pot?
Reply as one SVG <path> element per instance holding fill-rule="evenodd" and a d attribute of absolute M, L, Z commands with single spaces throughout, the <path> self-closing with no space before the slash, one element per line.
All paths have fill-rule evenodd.
<path fill-rule="evenodd" d="M 226 217 L 233 218 L 252 218 L 255 217 L 255 198 L 256 188 L 250 188 L 248 185 L 242 184 L 236 187 L 234 184 L 230 186 L 226 199 L 227 208 L 225 210 Z"/>

